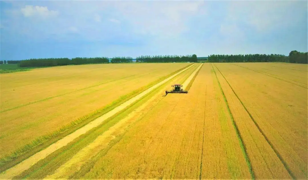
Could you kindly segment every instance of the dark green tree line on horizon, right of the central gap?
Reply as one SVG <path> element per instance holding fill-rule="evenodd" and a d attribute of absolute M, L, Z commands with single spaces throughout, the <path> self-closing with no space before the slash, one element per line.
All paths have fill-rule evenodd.
<path fill-rule="evenodd" d="M 281 54 L 237 54 L 217 55 L 208 57 L 209 62 L 290 62 L 307 64 L 307 52 L 291 51 L 289 56 Z"/>

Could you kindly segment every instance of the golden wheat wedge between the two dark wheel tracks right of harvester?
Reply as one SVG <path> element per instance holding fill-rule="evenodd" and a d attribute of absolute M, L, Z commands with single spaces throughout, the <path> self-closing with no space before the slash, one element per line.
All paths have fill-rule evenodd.
<path fill-rule="evenodd" d="M 233 93 L 231 87 L 222 77 L 218 69 L 215 70 L 227 98 L 234 121 L 236 122 L 241 133 L 255 178 L 292 178 L 284 168 L 282 162 L 276 156 L 274 150 L 266 142 L 261 132 L 257 129 L 253 123 L 253 120 L 250 118 L 249 114 L 241 105 L 241 102 Z"/>

